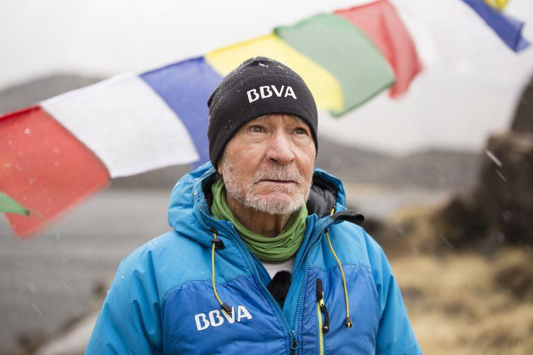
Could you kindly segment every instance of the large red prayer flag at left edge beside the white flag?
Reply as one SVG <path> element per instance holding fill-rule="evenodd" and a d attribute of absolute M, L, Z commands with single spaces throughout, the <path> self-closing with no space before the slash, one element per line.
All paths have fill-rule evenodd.
<path fill-rule="evenodd" d="M 0 118 L 0 191 L 50 220 L 109 184 L 102 162 L 40 107 Z M 43 227 L 29 217 L 6 213 L 11 228 L 27 238 Z"/>

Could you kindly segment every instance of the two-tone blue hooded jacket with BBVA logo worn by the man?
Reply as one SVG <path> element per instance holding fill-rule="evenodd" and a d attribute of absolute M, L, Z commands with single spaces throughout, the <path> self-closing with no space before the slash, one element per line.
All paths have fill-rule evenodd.
<path fill-rule="evenodd" d="M 341 181 L 315 170 L 316 206 L 309 206 L 281 309 L 266 289 L 269 274 L 231 222 L 210 215 L 214 173 L 207 163 L 183 176 L 170 199 L 174 230 L 120 263 L 87 355 L 422 354 L 388 260 L 353 223 L 361 215 L 346 210 Z M 337 212 L 330 216 L 331 208 Z M 214 256 L 213 232 L 224 244 Z M 215 298 L 212 273 L 231 313 Z M 348 307 L 352 327 L 345 324 Z"/>

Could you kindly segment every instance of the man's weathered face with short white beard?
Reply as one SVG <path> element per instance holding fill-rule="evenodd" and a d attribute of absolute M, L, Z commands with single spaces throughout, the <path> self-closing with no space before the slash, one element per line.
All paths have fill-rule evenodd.
<path fill-rule="evenodd" d="M 218 164 L 228 198 L 271 215 L 298 210 L 309 197 L 315 145 L 305 121 L 255 118 L 231 138 Z"/>

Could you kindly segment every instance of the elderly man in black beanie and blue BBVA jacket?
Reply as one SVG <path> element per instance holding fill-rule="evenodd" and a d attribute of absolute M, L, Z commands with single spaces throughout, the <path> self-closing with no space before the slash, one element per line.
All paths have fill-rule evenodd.
<path fill-rule="evenodd" d="M 251 58 L 208 105 L 210 163 L 174 186 L 172 231 L 120 263 L 86 354 L 421 354 L 363 216 L 314 169 L 302 78 Z"/>

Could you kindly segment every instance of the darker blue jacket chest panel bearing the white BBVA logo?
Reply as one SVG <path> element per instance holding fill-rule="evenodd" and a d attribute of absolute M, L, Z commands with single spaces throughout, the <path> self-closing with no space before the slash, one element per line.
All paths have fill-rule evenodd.
<path fill-rule="evenodd" d="M 166 295 L 164 354 L 286 354 L 282 325 L 253 277 L 217 284 L 217 292 L 231 314 L 220 308 L 210 281 L 188 282 Z"/>

